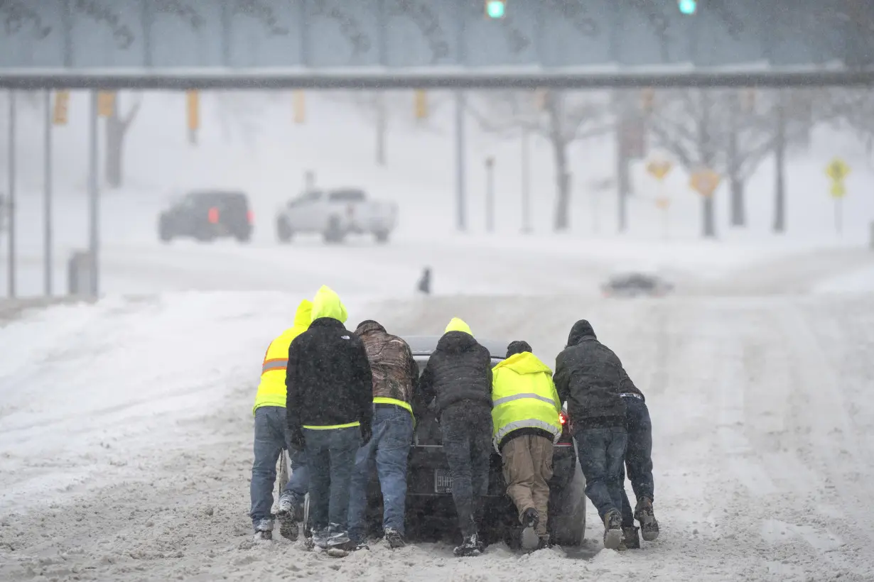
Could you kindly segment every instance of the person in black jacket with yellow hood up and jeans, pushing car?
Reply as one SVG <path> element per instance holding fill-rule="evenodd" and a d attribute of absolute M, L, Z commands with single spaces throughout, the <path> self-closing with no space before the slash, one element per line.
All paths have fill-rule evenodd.
<path fill-rule="evenodd" d="M 355 454 L 371 439 L 371 366 L 364 344 L 348 331 L 346 308 L 323 286 L 312 324 L 288 348 L 288 431 L 309 464 L 312 542 L 349 544 L 349 486 Z"/>

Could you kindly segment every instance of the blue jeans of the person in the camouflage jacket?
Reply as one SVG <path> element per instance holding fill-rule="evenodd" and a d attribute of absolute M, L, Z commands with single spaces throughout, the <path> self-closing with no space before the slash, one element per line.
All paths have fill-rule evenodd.
<path fill-rule="evenodd" d="M 349 498 L 349 537 L 367 537 L 367 485 L 376 465 L 383 496 L 383 529 L 404 533 L 406 458 L 413 443 L 413 415 L 393 404 L 373 405 L 373 436 L 358 449 Z"/>

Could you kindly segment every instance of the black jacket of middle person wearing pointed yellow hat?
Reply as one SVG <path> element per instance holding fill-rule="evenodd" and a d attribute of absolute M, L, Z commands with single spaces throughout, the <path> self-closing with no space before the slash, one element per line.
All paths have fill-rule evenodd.
<path fill-rule="evenodd" d="M 419 380 L 419 409 L 434 399 L 438 418 L 461 401 L 482 402 L 490 408 L 491 384 L 489 350 L 469 333 L 444 333 Z"/>

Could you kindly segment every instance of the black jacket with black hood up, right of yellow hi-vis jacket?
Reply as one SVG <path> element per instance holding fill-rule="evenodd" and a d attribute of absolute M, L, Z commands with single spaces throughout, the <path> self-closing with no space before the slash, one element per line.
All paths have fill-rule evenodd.
<path fill-rule="evenodd" d="M 625 403 L 620 394 L 628 374 L 613 350 L 595 337 L 592 325 L 580 319 L 571 328 L 567 347 L 555 360 L 558 396 L 576 427 L 625 425 Z M 628 380 L 630 383 L 630 380 Z M 633 385 L 632 385 L 633 386 Z"/>

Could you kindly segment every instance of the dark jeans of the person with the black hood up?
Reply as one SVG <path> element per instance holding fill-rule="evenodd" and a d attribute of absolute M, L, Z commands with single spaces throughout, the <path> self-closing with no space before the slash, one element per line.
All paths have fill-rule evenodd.
<path fill-rule="evenodd" d="M 586 496 L 601 521 L 622 507 L 622 463 L 628 433 L 625 427 L 580 428 L 576 433 L 579 467 L 586 476 Z"/>

